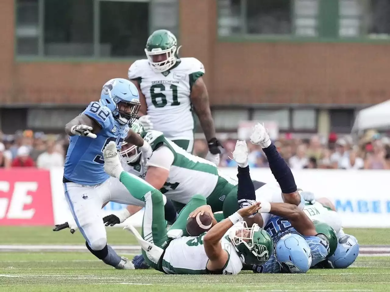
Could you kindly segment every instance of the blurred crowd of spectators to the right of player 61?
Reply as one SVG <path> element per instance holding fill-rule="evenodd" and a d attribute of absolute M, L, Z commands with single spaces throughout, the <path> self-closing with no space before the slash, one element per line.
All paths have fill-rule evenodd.
<path fill-rule="evenodd" d="M 280 135 L 274 141 L 279 153 L 291 169 L 390 169 L 390 138 L 369 130 L 353 141 L 349 135 L 330 134 L 328 139 L 312 135 L 310 139 L 294 139 Z M 236 140 L 223 142 L 225 153 L 220 166 L 236 167 L 230 159 Z M 247 141 L 250 167 L 268 167 L 267 158 L 260 146 Z M 207 144 L 203 140 L 194 143 L 194 154 L 205 157 Z"/>

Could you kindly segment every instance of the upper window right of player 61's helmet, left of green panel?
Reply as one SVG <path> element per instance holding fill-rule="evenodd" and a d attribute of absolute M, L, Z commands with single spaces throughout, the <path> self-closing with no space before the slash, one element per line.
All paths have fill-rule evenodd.
<path fill-rule="evenodd" d="M 218 0 L 218 34 L 317 34 L 319 0 Z"/>

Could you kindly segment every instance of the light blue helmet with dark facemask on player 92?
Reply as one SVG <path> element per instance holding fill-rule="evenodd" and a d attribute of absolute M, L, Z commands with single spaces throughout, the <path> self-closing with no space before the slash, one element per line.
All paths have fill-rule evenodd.
<path fill-rule="evenodd" d="M 137 119 L 141 106 L 137 87 L 131 81 L 123 78 L 107 81 L 101 90 L 99 102 L 110 109 L 112 116 L 121 125 L 131 125 Z M 130 111 L 120 110 L 121 104 L 131 106 Z"/>

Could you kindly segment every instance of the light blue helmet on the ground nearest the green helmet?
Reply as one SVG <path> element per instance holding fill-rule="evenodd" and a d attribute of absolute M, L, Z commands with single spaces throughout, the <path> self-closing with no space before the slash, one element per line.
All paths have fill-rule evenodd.
<path fill-rule="evenodd" d="M 312 253 L 305 237 L 296 232 L 283 232 L 275 242 L 275 258 L 282 271 L 306 273 L 312 264 Z"/>

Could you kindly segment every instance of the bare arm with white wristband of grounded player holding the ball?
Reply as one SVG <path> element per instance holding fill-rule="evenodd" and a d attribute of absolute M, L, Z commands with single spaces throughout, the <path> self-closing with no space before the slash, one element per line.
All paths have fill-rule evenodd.
<path fill-rule="evenodd" d="M 244 217 L 256 213 L 259 209 L 259 202 L 256 202 L 252 206 L 239 209 L 236 213 L 217 223 L 211 227 L 209 231 L 207 231 L 203 238 L 203 245 L 206 255 L 209 258 L 209 261 L 207 262 L 207 269 L 209 271 L 218 271 L 223 269 L 226 262 L 229 260 L 229 255 L 227 251 L 222 248 L 220 242 L 227 230 L 240 220 L 242 221 Z"/>

